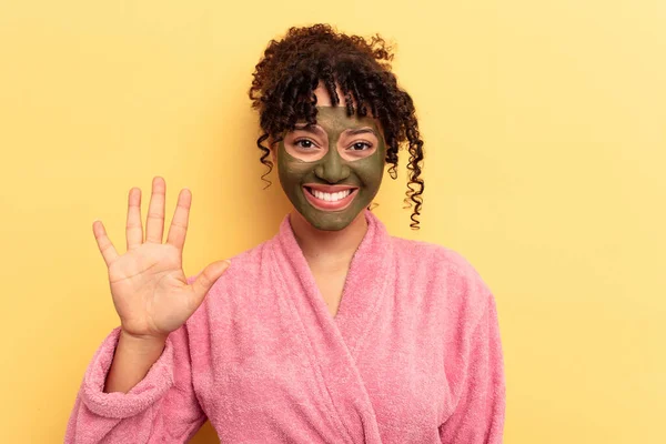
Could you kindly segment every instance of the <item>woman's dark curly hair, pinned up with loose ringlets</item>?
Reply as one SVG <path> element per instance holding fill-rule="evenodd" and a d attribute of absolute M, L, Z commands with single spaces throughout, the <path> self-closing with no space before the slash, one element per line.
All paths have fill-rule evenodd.
<path fill-rule="evenodd" d="M 263 142 L 269 138 L 280 141 L 299 121 L 315 124 L 314 90 L 321 82 L 336 107 L 341 101 L 339 85 L 347 115 L 365 117 L 370 111 L 381 122 L 392 179 L 397 178 L 398 148 L 406 142 L 410 159 L 404 202 L 406 209 L 413 206 L 410 225 L 417 230 L 424 190 L 423 141 L 412 98 L 397 85 L 391 72 L 392 60 L 392 48 L 379 34 L 366 40 L 340 33 L 329 24 L 290 28 L 282 40 L 271 40 L 255 67 L 249 91 L 263 131 L 256 140 L 262 151 L 261 162 L 268 167 L 262 179 L 266 181 L 273 169 L 270 150 Z"/>

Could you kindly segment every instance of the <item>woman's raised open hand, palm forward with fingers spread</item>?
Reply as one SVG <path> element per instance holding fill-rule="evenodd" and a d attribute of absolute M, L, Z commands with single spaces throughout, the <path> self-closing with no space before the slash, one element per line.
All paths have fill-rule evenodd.
<path fill-rule="evenodd" d="M 181 190 L 167 243 L 162 243 L 165 191 L 164 180 L 154 178 L 144 241 L 141 190 L 130 190 L 128 250 L 122 255 L 107 236 L 102 222 L 94 221 L 92 224 L 98 246 L 109 268 L 111 294 L 122 331 L 138 339 L 164 339 L 183 325 L 229 266 L 229 261 L 213 262 L 191 285 L 188 284 L 182 270 L 182 253 L 192 193 L 188 189 Z"/>

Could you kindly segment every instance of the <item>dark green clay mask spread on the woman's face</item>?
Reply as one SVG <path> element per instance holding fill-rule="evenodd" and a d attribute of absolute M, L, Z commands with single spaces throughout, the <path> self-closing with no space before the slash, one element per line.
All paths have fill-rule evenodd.
<path fill-rule="evenodd" d="M 316 107 L 316 124 L 327 135 L 327 152 L 321 159 L 313 161 L 296 159 L 287 152 L 285 137 L 279 143 L 278 172 L 282 189 L 307 222 L 319 230 L 337 231 L 346 228 L 363 209 L 370 205 L 380 190 L 384 175 L 386 147 L 372 118 L 347 117 L 344 107 Z M 342 133 L 349 129 L 361 128 L 371 128 L 377 134 L 374 152 L 361 159 L 341 155 L 339 150 L 346 149 L 346 147 L 339 147 Z M 320 149 L 325 150 L 326 147 Z M 345 209 L 325 211 L 315 208 L 305 196 L 309 191 L 304 185 L 309 183 L 351 185 L 359 190 Z"/>

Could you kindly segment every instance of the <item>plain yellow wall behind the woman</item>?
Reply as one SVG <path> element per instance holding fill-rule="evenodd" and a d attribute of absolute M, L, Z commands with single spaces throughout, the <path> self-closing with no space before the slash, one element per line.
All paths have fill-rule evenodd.
<path fill-rule="evenodd" d="M 189 275 L 275 232 L 287 206 L 262 191 L 246 90 L 271 38 L 319 21 L 397 43 L 423 229 L 404 172 L 375 211 L 494 291 L 505 442 L 666 442 L 664 1 L 224 3 L 0 4 L 0 442 L 62 442 L 118 323 L 92 222 L 124 251 L 131 186 L 163 175 L 168 223 L 192 190 Z"/>

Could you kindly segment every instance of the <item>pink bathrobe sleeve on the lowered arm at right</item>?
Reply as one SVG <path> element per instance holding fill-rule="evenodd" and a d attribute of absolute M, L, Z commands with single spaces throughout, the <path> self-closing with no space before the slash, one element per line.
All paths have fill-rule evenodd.
<path fill-rule="evenodd" d="M 504 428 L 505 383 L 495 300 L 463 347 L 456 371 L 460 387 L 455 411 L 440 427 L 445 444 L 501 444 Z"/>

